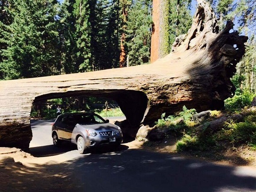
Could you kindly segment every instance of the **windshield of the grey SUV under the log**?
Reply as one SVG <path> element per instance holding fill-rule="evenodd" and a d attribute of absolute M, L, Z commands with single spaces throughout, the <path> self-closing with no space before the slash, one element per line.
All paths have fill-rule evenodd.
<path fill-rule="evenodd" d="M 106 123 L 106 121 L 95 114 L 82 114 L 75 117 L 76 123 L 78 124 L 101 124 Z"/>

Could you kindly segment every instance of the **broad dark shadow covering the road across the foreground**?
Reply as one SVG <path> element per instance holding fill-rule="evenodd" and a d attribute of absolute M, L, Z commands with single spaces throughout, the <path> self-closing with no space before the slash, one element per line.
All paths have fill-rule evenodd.
<path fill-rule="evenodd" d="M 1 184 L 3 191 L 256 191 L 255 169 L 134 149 L 80 155 L 62 163 L 34 164 L 33 168 L 11 165 L 8 158 L 0 162 L 7 176 L 15 175 Z"/>

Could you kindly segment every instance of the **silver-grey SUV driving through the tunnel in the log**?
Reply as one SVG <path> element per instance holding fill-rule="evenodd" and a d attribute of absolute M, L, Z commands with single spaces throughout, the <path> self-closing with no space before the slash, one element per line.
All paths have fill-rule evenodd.
<path fill-rule="evenodd" d="M 102 145 L 119 146 L 122 136 L 120 127 L 95 113 L 64 113 L 52 125 L 53 145 L 59 146 L 63 140 L 71 141 L 81 154 Z"/>

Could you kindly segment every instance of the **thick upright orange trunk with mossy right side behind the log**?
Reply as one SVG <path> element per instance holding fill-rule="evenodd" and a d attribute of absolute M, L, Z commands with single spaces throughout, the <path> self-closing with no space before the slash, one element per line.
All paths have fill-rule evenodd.
<path fill-rule="evenodd" d="M 169 47 L 169 3 L 153 0 L 153 26 L 151 37 L 151 63 L 168 54 Z"/>

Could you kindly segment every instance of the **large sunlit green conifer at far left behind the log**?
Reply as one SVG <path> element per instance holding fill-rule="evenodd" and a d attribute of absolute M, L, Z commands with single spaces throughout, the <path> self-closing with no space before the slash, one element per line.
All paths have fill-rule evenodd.
<path fill-rule="evenodd" d="M 56 28 L 56 0 L 14 1 L 8 9 L 13 21 L 4 25 L 0 71 L 3 79 L 54 75 L 57 71 L 59 42 Z"/>

